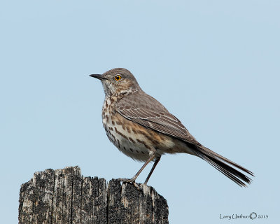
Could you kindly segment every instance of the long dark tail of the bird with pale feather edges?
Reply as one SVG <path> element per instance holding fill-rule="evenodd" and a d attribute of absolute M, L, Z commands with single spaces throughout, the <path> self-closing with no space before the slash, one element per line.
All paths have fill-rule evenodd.
<path fill-rule="evenodd" d="M 253 172 L 245 169 L 244 167 L 241 167 L 237 163 L 232 162 L 227 158 L 224 158 L 222 155 L 219 155 L 218 153 L 215 153 L 214 151 L 211 151 L 209 148 L 206 148 L 204 146 L 197 146 L 195 149 L 196 150 L 193 151 L 195 155 L 208 162 L 211 166 L 218 169 L 218 171 L 225 176 L 228 176 L 229 179 L 237 183 L 239 186 L 246 187 L 246 183 L 251 183 L 252 180 L 248 176 L 242 174 L 233 167 L 237 167 L 238 169 L 241 169 L 251 176 L 254 176 Z M 233 167 L 231 167 L 230 165 L 232 165 Z"/>

